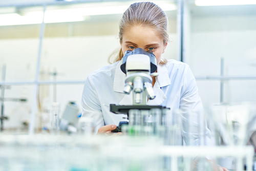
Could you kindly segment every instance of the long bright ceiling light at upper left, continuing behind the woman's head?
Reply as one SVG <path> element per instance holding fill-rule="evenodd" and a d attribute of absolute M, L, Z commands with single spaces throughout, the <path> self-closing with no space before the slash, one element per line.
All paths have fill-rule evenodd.
<path fill-rule="evenodd" d="M 100 6 L 99 6 L 100 5 Z M 175 10 L 176 6 L 169 3 L 159 3 L 164 11 Z M 45 12 L 45 23 L 65 23 L 65 22 L 80 22 L 90 15 L 106 15 L 106 14 L 122 14 L 130 4 L 90 4 L 90 6 L 80 6 L 80 8 L 66 8 L 55 9 L 49 6 Z M 77 6 L 78 7 L 78 6 Z M 13 9 L 12 9 L 13 10 Z M 15 9 L 16 10 L 16 9 Z M 0 8 L 1 12 L 1 8 Z M 5 11 L 6 12 L 6 11 Z M 28 25 L 28 24 L 40 24 L 42 23 L 43 12 L 40 9 L 35 11 L 24 10 L 17 13 L 0 13 L 0 26 L 11 25 Z"/>

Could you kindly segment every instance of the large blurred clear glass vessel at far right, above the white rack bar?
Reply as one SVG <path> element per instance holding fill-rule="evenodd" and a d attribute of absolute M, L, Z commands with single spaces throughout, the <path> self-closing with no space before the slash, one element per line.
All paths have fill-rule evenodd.
<path fill-rule="evenodd" d="M 255 130 L 256 106 L 251 102 L 212 105 L 210 118 L 217 145 L 246 145 Z"/>

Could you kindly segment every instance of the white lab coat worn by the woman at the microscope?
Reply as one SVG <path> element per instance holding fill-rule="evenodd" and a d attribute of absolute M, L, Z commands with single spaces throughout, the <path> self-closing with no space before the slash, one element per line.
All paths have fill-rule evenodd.
<path fill-rule="evenodd" d="M 100 126 L 116 124 L 124 121 L 125 115 L 110 112 L 110 104 L 132 105 L 133 95 L 123 93 L 125 74 L 120 69 L 121 62 L 105 66 L 90 74 L 84 84 L 82 93 L 82 117 L 93 117 L 95 132 Z M 188 65 L 174 59 L 168 60 L 165 65 L 157 68 L 158 76 L 153 87 L 156 98 L 148 100 L 147 105 L 162 105 L 174 111 L 180 109 L 183 113 L 190 110 L 201 112 L 203 110 L 195 77 Z M 189 118 L 191 119 L 191 118 Z M 187 122 L 188 118 L 183 118 Z M 207 129 L 207 139 L 210 132 Z M 186 141 L 189 127 L 184 127 L 182 135 Z M 197 137 L 199 133 L 195 133 Z M 208 141 L 208 140 L 207 140 Z M 197 144 L 195 142 L 194 144 Z"/>

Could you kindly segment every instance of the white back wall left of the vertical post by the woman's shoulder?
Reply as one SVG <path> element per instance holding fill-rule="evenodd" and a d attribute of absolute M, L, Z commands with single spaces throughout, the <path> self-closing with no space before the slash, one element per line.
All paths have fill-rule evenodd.
<path fill-rule="evenodd" d="M 170 34 L 170 41 L 164 53 L 165 58 L 176 57 L 176 35 Z M 33 39 L 0 40 L 0 73 L 7 65 L 6 81 L 33 81 L 36 70 L 38 42 Z M 45 38 L 42 44 L 40 80 L 53 80 L 56 69 L 57 80 L 86 80 L 87 76 L 105 65 L 109 65 L 109 55 L 119 47 L 116 35 Z M 2 74 L 1 74 L 2 75 Z M 61 114 L 69 101 L 80 105 L 83 84 L 58 84 L 57 102 L 61 105 Z M 21 126 L 20 120 L 28 120 L 33 86 L 11 86 L 5 91 L 5 97 L 27 98 L 28 102 L 5 102 L 5 114 L 10 117 L 5 127 Z M 41 113 L 39 119 L 47 120 L 47 112 L 53 102 L 53 85 L 39 87 Z M 80 110 L 81 111 L 81 110 Z M 43 115 L 43 116 L 42 116 Z M 42 123 L 47 124 L 47 123 Z"/>

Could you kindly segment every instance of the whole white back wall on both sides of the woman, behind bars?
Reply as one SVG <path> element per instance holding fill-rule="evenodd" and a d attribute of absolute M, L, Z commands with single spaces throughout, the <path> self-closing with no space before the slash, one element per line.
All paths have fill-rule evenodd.
<path fill-rule="evenodd" d="M 208 16 L 191 17 L 191 33 L 189 44 L 189 60 L 195 76 L 220 75 L 220 59 L 224 57 L 225 75 L 255 75 L 256 73 L 256 16 Z M 42 46 L 40 79 L 53 80 L 49 75 L 56 68 L 59 75 L 57 80 L 85 80 L 87 76 L 108 65 L 109 54 L 116 49 L 118 39 L 116 35 L 58 37 L 45 38 Z M 170 41 L 163 56 L 176 58 L 177 37 L 170 34 Z M 7 81 L 32 81 L 35 76 L 36 58 L 38 52 L 38 38 L 32 39 L 1 39 L 0 40 L 0 72 L 4 63 L 7 64 Z M 220 81 L 197 81 L 203 104 L 220 101 Z M 224 101 L 256 101 L 256 80 L 226 81 L 224 87 Z M 80 104 L 82 84 L 58 85 L 57 101 L 61 109 L 68 101 Z M 11 86 L 5 92 L 6 97 L 28 98 L 26 110 L 30 111 L 33 97 L 32 86 Z M 41 87 L 40 93 L 46 110 L 51 109 L 53 101 L 53 86 Z M 21 104 L 5 102 L 7 116 L 15 114 Z M 16 110 L 18 111 L 18 110 Z M 21 113 L 21 112 L 19 112 Z M 26 113 L 26 114 L 25 114 Z M 39 117 L 37 117 L 39 118 Z M 20 123 L 9 120 L 6 126 L 15 127 Z"/>

